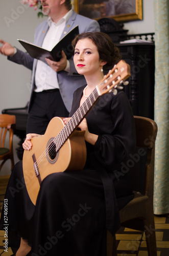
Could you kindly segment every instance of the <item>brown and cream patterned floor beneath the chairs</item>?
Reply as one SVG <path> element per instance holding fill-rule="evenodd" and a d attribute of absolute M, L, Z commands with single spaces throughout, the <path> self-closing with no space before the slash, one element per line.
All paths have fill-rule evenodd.
<path fill-rule="evenodd" d="M 0 176 L 0 211 L 4 202 L 9 176 Z M 1 214 L 1 213 L 0 213 Z M 155 216 L 157 256 L 169 256 L 169 215 Z M 11 248 L 4 249 L 5 231 L 0 230 L 0 255 L 11 256 Z M 144 233 L 121 227 L 116 233 L 117 256 L 148 256 Z M 105 255 L 106 256 L 106 255 Z"/>

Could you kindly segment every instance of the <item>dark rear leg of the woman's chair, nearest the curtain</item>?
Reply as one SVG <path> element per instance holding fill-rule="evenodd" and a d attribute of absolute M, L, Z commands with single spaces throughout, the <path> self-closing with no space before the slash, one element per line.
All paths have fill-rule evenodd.
<path fill-rule="evenodd" d="M 144 220 L 144 228 L 145 228 L 148 255 L 157 256 L 154 215 L 152 216 L 149 215 L 148 219 Z"/>

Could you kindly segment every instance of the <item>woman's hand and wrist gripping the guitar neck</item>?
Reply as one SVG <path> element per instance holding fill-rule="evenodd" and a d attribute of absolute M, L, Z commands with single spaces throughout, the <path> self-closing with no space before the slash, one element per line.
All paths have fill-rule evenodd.
<path fill-rule="evenodd" d="M 66 124 L 69 120 L 70 120 L 70 117 L 64 118 L 63 119 L 64 124 Z M 96 140 L 98 139 L 98 135 L 93 134 L 93 133 L 89 133 L 86 118 L 84 118 L 82 120 L 82 122 L 79 124 L 78 127 L 81 129 L 81 131 L 85 131 L 85 134 L 84 134 L 85 141 L 87 141 L 90 144 L 94 145 Z"/>

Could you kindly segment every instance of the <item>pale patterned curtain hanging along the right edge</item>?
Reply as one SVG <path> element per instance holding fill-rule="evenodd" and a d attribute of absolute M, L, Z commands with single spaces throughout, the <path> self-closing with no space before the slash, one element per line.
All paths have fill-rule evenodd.
<path fill-rule="evenodd" d="M 169 1 L 154 0 L 155 149 L 154 214 L 169 213 Z"/>

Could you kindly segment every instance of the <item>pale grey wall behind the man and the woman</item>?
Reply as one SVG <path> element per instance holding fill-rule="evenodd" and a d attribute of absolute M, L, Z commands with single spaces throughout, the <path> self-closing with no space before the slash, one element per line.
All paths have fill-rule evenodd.
<path fill-rule="evenodd" d="M 43 19 L 37 17 L 37 11 L 32 7 L 22 5 L 19 0 L 1 0 L 0 38 L 23 50 L 17 38 L 33 42 L 35 27 Z M 143 0 L 143 20 L 124 25 L 124 29 L 128 29 L 129 34 L 154 32 L 153 0 Z M 0 67 L 0 113 L 3 109 L 24 107 L 30 97 L 31 71 L 7 60 L 3 55 L 0 55 Z M 14 152 L 18 142 L 18 138 L 14 136 Z M 16 163 L 18 161 L 16 153 L 14 158 Z M 8 174 L 10 174 L 9 160 L 0 175 Z"/>

